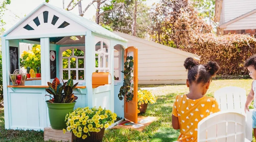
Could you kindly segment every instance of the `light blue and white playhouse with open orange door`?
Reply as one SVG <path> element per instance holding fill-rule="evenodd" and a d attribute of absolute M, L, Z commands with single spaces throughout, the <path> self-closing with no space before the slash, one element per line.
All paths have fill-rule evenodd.
<path fill-rule="evenodd" d="M 16 86 L 10 74 L 20 69 L 19 43 L 40 45 L 41 76 L 27 78 L 24 85 Z M 134 60 L 138 60 L 136 48 L 128 48 L 126 39 L 88 19 L 42 3 L 2 35 L 2 53 L 6 129 L 44 130 L 50 127 L 45 102 L 50 97 L 45 96 L 45 89 L 49 87 L 47 82 L 55 77 L 64 82 L 69 78 L 78 82 L 74 89 L 78 97 L 75 108 L 101 106 L 120 117 L 137 118 L 134 116 L 137 116 L 137 94 L 126 105 L 117 97 L 123 85 L 124 57 L 134 56 Z M 135 93 L 136 66 L 135 63 Z M 107 75 L 104 79 L 96 79 L 101 77 L 101 72 Z M 127 106 L 130 104 L 133 107 Z"/>

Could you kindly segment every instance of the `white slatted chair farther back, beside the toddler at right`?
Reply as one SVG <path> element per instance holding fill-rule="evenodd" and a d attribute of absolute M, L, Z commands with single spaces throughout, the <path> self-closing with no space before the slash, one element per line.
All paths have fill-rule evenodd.
<path fill-rule="evenodd" d="M 246 138 L 252 141 L 252 112 L 244 111 L 246 102 L 246 91 L 240 87 L 224 87 L 214 93 L 214 98 L 219 103 L 221 111 L 237 112 L 245 115 Z"/>

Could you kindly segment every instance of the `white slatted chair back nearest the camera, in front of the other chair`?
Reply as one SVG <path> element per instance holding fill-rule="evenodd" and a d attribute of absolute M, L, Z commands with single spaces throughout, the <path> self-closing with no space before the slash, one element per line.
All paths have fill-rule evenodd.
<path fill-rule="evenodd" d="M 201 120 L 198 123 L 197 142 L 216 141 L 250 142 L 245 138 L 245 115 L 221 111 Z"/>

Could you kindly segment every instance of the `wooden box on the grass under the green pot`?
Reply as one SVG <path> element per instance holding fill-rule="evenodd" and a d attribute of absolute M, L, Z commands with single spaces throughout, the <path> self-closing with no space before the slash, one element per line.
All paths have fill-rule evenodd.
<path fill-rule="evenodd" d="M 61 141 L 62 142 L 73 142 L 73 139 L 75 139 L 75 135 L 71 132 L 63 133 L 62 130 L 54 130 L 51 127 L 44 128 L 44 141 L 47 140 L 55 140 L 55 141 Z"/>

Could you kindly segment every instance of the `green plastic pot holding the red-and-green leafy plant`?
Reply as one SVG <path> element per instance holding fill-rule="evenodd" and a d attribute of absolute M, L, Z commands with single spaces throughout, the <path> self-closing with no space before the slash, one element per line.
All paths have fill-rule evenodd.
<path fill-rule="evenodd" d="M 46 101 L 51 127 L 55 130 L 66 129 L 65 117 L 67 113 L 72 112 L 75 103 L 49 103 Z"/>

